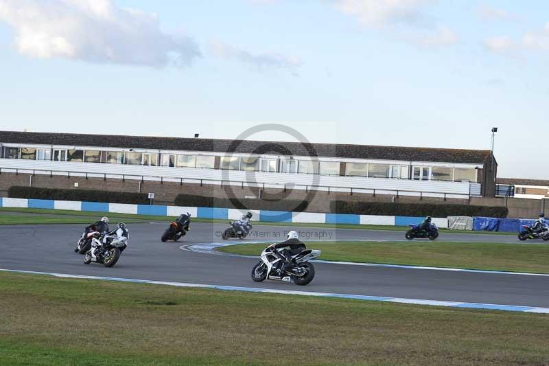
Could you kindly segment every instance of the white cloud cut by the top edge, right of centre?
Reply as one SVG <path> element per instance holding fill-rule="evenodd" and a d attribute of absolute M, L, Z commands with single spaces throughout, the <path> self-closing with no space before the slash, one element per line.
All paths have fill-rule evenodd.
<path fill-rule="evenodd" d="M 419 8 L 432 0 L 337 0 L 336 8 L 355 16 L 365 25 L 414 23 L 421 17 Z"/>

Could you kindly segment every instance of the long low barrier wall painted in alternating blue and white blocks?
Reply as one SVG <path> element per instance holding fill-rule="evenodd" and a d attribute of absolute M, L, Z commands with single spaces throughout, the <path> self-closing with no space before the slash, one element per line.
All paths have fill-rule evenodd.
<path fill-rule="evenodd" d="M 237 220 L 248 210 L 217 207 L 178 207 L 161 205 L 126 205 L 123 203 L 100 203 L 80 201 L 54 201 L 26 198 L 0 198 L 0 207 L 21 207 L 40 209 L 68 209 L 72 211 L 113 212 L 117 214 L 139 214 L 150 216 L 179 216 L 189 212 L 196 218 Z M 388 225 L 407 226 L 419 224 L 423 217 L 373 216 L 348 214 L 320 214 L 315 212 L 290 212 L 250 210 L 252 220 L 263 222 L 302 223 L 302 224 L 347 224 L 347 225 Z M 441 228 L 448 227 L 447 218 L 433 218 Z"/>

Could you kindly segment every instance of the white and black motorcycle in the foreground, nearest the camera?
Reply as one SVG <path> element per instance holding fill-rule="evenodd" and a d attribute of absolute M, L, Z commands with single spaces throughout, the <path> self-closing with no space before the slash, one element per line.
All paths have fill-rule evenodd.
<path fill-rule="evenodd" d="M 274 253 L 274 252 L 277 253 Z M 266 248 L 261 253 L 261 261 L 252 268 L 252 279 L 254 282 L 262 282 L 265 279 L 274 279 L 277 281 L 290 282 L 305 286 L 314 279 L 314 266 L 309 260 L 318 258 L 321 251 L 305 249 L 301 253 L 292 256 L 290 268 L 281 273 L 283 261 L 281 257 L 283 249 Z"/>

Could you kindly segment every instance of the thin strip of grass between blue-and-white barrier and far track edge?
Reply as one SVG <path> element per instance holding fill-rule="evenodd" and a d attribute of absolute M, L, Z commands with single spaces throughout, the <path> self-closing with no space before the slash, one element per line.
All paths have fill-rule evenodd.
<path fill-rule="evenodd" d="M 0 207 L 0 213 L 2 211 L 5 212 L 19 212 L 19 213 L 27 213 L 27 214 L 49 214 L 49 215 L 60 215 L 60 221 L 59 222 L 25 222 L 25 220 L 22 220 L 22 222 L 16 222 L 16 220 L 10 221 L 5 220 L 5 216 L 8 215 L 1 215 L 0 214 L 0 225 L 3 224 L 38 224 L 38 223 L 44 223 L 44 224 L 75 224 L 75 223 L 84 223 L 87 222 L 88 217 L 101 217 L 101 216 L 108 216 L 111 220 L 126 220 L 126 222 L 130 222 L 129 220 L 150 220 L 150 221 L 166 221 L 169 222 L 170 220 L 174 220 L 175 217 L 169 217 L 169 216 L 150 216 L 150 215 L 134 215 L 134 214 L 115 214 L 112 212 L 91 212 L 91 211 L 70 211 L 65 209 L 27 209 L 27 208 L 17 208 L 17 207 Z M 63 221 L 62 216 L 74 216 L 75 218 L 86 218 L 83 222 L 70 222 L 69 220 L 66 220 L 67 222 Z M 212 223 L 226 223 L 227 220 L 215 220 L 215 219 L 209 219 L 209 218 L 191 218 L 193 222 L 212 222 Z M 136 221 L 139 222 L 139 221 Z M 318 227 L 318 228 L 332 228 L 332 229 L 360 229 L 360 230 L 384 230 L 384 231 L 406 231 L 408 230 L 408 227 L 401 227 L 401 226 L 390 226 L 390 225 L 348 225 L 348 224 L 300 224 L 300 223 L 290 223 L 290 222 L 261 222 L 261 221 L 254 221 L 253 225 L 264 225 L 264 226 L 287 226 L 287 227 Z M 472 231 L 465 231 L 465 230 L 447 230 L 447 229 L 441 229 L 441 232 L 447 232 L 447 233 L 472 233 Z M 476 234 L 487 234 L 487 235 L 516 235 L 515 233 L 496 233 L 491 231 L 475 231 Z"/>

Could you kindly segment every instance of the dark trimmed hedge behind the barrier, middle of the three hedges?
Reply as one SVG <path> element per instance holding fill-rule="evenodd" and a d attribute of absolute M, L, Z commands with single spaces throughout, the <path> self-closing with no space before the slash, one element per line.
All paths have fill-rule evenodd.
<path fill-rule="evenodd" d="M 304 211 L 309 203 L 300 200 L 266 201 L 261 198 L 214 198 L 179 194 L 175 199 L 176 206 L 220 207 L 235 209 L 264 209 L 267 211 Z"/>

